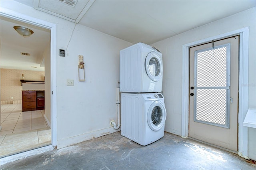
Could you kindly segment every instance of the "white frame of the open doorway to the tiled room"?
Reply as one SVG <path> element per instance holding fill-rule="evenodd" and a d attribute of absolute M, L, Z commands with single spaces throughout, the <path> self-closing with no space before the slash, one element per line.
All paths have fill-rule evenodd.
<path fill-rule="evenodd" d="M 12 10 L 1 8 L 0 15 L 6 18 L 31 24 L 34 26 L 46 28 L 51 31 L 51 49 L 50 49 L 50 63 L 51 63 L 51 83 L 50 91 L 50 111 L 51 111 L 51 129 L 52 129 L 52 146 L 57 146 L 57 25 L 14 12 Z"/>

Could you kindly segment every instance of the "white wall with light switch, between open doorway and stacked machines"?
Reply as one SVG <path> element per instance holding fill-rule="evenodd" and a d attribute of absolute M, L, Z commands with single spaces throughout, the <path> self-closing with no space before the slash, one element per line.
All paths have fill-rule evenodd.
<path fill-rule="evenodd" d="M 57 24 L 57 47 L 68 46 L 66 57 L 57 56 L 57 148 L 115 132 L 119 51 L 132 43 L 15 1 L 1 0 L 1 7 Z M 78 55 L 84 55 L 84 82 L 78 81 Z"/>

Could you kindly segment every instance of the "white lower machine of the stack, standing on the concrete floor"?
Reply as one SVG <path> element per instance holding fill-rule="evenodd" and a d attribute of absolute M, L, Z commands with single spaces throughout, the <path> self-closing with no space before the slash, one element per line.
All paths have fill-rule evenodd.
<path fill-rule="evenodd" d="M 161 93 L 121 93 L 121 134 L 145 146 L 164 136 L 166 109 Z"/>

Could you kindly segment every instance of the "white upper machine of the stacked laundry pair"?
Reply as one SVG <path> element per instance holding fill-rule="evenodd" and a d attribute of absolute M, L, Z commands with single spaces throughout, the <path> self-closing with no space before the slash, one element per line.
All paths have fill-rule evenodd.
<path fill-rule="evenodd" d="M 162 53 L 158 49 L 136 43 L 120 51 L 120 92 L 161 92 L 162 76 Z"/>

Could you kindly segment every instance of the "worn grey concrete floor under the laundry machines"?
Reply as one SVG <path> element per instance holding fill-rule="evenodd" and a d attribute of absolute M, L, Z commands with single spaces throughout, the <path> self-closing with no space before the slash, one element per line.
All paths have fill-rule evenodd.
<path fill-rule="evenodd" d="M 0 169 L 255 170 L 256 165 L 237 154 L 170 133 L 152 144 L 140 146 L 116 132 L 10 162 Z"/>

